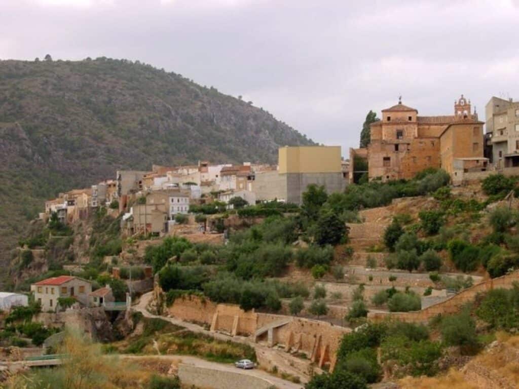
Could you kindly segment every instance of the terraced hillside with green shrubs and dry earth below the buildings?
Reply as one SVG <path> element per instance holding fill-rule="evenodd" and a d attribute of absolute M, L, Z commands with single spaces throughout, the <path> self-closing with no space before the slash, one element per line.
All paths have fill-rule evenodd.
<path fill-rule="evenodd" d="M 496 388 L 515 387 L 519 284 L 486 288 L 427 321 L 391 318 L 441 307 L 485 280 L 516 276 L 517 183 L 515 177 L 494 174 L 453 187 L 444 171 L 427 170 L 411 180 L 350 185 L 331 195 L 312 185 L 301 206 L 194 206 L 192 215 L 159 238 L 125 235 L 120 216 L 103 208 L 73 226 L 51 217 L 47 224 L 33 225 L 21 242 L 11 263 L 17 280 L 12 287 L 27 290 L 31 282 L 72 271 L 94 287 L 111 285 L 121 299 L 128 273 L 141 277 L 149 266 L 157 274 L 150 307 L 159 317 L 181 312 L 173 309 L 177 304 L 197 301 L 344 328 L 336 359 L 322 363 L 307 349 L 293 349 L 277 338 L 272 352 L 290 353 L 286 358 L 297 364 L 291 359 L 290 371 L 282 362 L 269 371 L 307 389 L 407 388 L 423 386 L 421 381 L 442 387 L 463 380 L 467 388 L 490 387 L 485 386 L 490 381 L 500 383 Z M 207 223 L 214 235 L 186 232 L 197 223 Z M 224 230 L 228 239 L 222 244 L 217 233 Z M 222 236 L 222 241 L 204 241 L 204 236 Z M 120 278 L 113 276 L 115 267 Z M 370 319 L 374 315 L 389 319 Z M 211 318 L 204 320 L 190 325 L 208 331 Z M 224 346 L 176 327 L 150 332 L 150 325 L 135 324 L 104 350 L 148 354 L 158 348 L 205 358 L 225 350 L 231 356 L 221 358 L 230 362 L 252 358 L 255 348 L 256 353 L 270 348 L 244 334 L 240 342 L 252 348 Z M 23 326 L 8 326 L 4 344 L 13 344 L 24 331 L 31 334 Z M 491 356 L 506 360 L 496 367 L 488 363 Z"/>

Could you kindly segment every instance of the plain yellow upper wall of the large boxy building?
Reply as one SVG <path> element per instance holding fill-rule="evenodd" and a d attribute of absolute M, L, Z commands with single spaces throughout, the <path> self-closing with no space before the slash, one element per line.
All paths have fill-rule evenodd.
<path fill-rule="evenodd" d="M 340 146 L 281 147 L 279 173 L 340 173 Z"/>

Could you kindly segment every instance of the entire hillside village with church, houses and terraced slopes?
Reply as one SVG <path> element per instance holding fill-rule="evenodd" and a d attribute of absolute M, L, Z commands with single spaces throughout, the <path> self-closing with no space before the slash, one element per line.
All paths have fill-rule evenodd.
<path fill-rule="evenodd" d="M 519 102 L 481 121 L 463 95 L 441 116 L 399 99 L 367 124 L 347 159 L 288 145 L 46 201 L 0 293 L 0 369 L 60 365 L 74 327 L 198 387 L 515 387 Z M 258 373 L 232 375 L 244 359 Z"/>

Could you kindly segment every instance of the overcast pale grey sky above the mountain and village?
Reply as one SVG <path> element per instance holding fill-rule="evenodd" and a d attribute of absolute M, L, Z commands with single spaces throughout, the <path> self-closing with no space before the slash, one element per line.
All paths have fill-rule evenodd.
<path fill-rule="evenodd" d="M 519 0 L 0 0 L 0 59 L 127 58 L 243 95 L 343 155 L 368 110 L 519 100 Z"/>

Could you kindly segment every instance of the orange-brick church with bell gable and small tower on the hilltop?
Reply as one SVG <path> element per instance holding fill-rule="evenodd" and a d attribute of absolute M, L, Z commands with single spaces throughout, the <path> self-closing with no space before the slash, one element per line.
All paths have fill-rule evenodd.
<path fill-rule="evenodd" d="M 368 178 L 383 181 L 409 179 L 427 168 L 442 168 L 453 178 L 460 170 L 486 170 L 483 124 L 463 95 L 449 116 L 418 116 L 417 109 L 399 101 L 383 109 L 382 119 L 371 124 L 366 149 L 350 149 L 350 182 L 364 169 L 359 168 L 363 158 Z"/>

